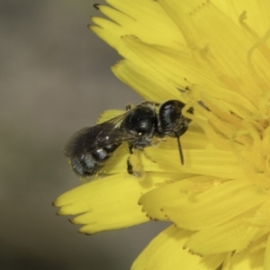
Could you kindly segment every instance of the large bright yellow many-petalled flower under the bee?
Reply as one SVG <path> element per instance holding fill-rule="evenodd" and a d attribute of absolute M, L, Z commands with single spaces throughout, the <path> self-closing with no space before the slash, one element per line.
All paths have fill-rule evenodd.
<path fill-rule="evenodd" d="M 123 58 L 115 76 L 146 100 L 193 106 L 185 162 L 167 139 L 140 155 L 139 179 L 122 146 L 106 177 L 58 197 L 58 213 L 86 234 L 173 223 L 134 270 L 270 269 L 270 2 L 107 2 L 98 7 L 110 20 L 94 17 L 90 29 Z"/>

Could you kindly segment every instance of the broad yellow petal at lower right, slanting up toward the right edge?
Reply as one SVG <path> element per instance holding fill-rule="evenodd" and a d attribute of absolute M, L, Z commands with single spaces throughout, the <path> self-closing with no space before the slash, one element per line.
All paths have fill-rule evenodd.
<path fill-rule="evenodd" d="M 194 196 L 189 203 L 165 206 L 163 211 L 179 228 L 207 229 L 251 210 L 267 196 L 244 179 L 231 180 Z"/>

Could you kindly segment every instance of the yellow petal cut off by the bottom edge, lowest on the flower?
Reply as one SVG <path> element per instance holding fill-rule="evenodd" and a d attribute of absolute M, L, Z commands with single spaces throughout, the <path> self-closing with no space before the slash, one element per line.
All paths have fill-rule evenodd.
<path fill-rule="evenodd" d="M 154 238 L 131 266 L 132 270 L 212 270 L 222 263 L 224 255 L 199 257 L 183 248 L 190 232 L 168 227 Z"/>

